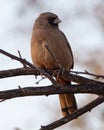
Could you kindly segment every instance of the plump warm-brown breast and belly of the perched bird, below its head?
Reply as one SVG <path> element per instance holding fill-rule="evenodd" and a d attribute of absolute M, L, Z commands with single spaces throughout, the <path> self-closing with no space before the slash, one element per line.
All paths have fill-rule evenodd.
<path fill-rule="evenodd" d="M 33 63 L 39 68 L 46 69 L 70 69 L 72 55 L 66 39 L 60 32 L 49 32 L 39 40 L 32 36 L 31 55 Z"/>

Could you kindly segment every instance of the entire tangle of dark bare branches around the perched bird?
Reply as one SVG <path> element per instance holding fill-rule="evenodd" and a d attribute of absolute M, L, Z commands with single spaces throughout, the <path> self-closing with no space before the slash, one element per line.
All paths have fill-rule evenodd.
<path fill-rule="evenodd" d="M 17 68 L 17 69 L 10 69 L 10 70 L 2 70 L 0 71 L 0 78 L 7 78 L 7 77 L 13 77 L 13 76 L 21 76 L 21 75 L 44 75 L 46 78 L 48 78 L 52 85 L 45 86 L 45 87 L 24 87 L 21 88 L 19 86 L 18 89 L 13 90 L 5 90 L 0 91 L 0 99 L 1 101 L 5 101 L 7 99 L 16 98 L 16 97 L 24 97 L 24 96 L 37 96 L 37 95 L 54 95 L 54 94 L 64 94 L 64 93 L 91 93 L 91 94 L 97 94 L 100 95 L 97 99 L 90 102 L 86 106 L 80 108 L 73 114 L 66 116 L 64 118 L 61 118 L 47 126 L 42 126 L 40 130 L 52 130 L 54 128 L 57 128 L 77 117 L 84 114 L 87 111 L 90 111 L 97 105 L 104 102 L 104 82 L 96 81 L 93 79 L 89 79 L 86 77 L 82 77 L 79 74 L 87 74 L 89 76 L 93 76 L 96 78 L 102 78 L 104 79 L 103 75 L 95 75 L 91 74 L 88 71 L 85 72 L 76 72 L 76 71 L 66 71 L 66 70 L 41 70 L 36 68 L 33 64 L 28 62 L 27 60 L 23 59 L 22 56 L 19 53 L 20 57 L 14 56 L 2 49 L 0 49 L 0 53 L 10 57 L 16 61 L 19 61 L 23 64 L 23 68 Z M 56 80 L 53 77 L 61 77 L 64 80 L 67 81 L 73 81 L 77 84 L 67 84 L 62 85 L 56 82 Z"/>

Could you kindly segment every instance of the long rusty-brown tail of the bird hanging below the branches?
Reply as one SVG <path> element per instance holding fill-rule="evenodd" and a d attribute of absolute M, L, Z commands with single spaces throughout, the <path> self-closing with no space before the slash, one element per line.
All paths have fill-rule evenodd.
<path fill-rule="evenodd" d="M 60 84 L 71 84 L 70 81 L 65 81 L 61 78 L 57 78 L 57 82 Z M 72 114 L 77 110 L 76 99 L 73 94 L 59 94 L 59 100 L 63 116 Z"/>

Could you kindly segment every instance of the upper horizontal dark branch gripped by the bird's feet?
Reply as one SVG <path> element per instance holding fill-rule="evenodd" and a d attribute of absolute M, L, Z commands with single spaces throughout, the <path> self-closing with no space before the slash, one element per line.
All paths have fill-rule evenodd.
<path fill-rule="evenodd" d="M 54 77 L 56 77 L 59 74 L 58 71 L 54 73 L 55 70 L 44 70 L 44 71 Z M 30 67 L 0 71 L 0 78 L 7 78 L 7 77 L 13 77 L 13 76 L 20 76 L 20 75 L 40 75 L 40 73 L 37 70 L 37 68 L 30 68 Z M 103 84 L 103 82 L 88 79 L 88 78 L 85 78 L 76 74 L 71 74 L 70 71 L 63 71 L 62 75 L 60 74 L 59 76 L 61 77 L 63 76 L 65 80 L 73 81 L 78 84 L 90 84 L 90 83 L 99 84 L 99 85 Z"/>

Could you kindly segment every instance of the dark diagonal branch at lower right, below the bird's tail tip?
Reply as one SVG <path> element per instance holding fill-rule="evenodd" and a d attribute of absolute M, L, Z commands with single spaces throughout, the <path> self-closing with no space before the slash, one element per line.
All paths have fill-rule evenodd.
<path fill-rule="evenodd" d="M 80 108 L 79 110 L 77 110 L 76 112 L 74 112 L 71 115 L 68 115 L 64 118 L 61 118 L 47 126 L 41 126 L 40 130 L 53 130 L 59 126 L 62 126 L 63 124 L 68 123 L 69 121 L 76 119 L 77 117 L 79 117 L 80 115 L 91 111 L 94 107 L 98 106 L 99 104 L 101 104 L 102 102 L 104 102 L 104 96 L 100 96 L 97 99 L 95 99 L 94 101 L 90 102 L 89 104 L 87 104 L 86 106 Z"/>

